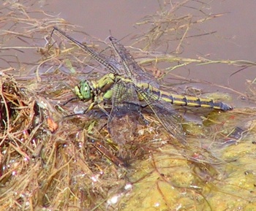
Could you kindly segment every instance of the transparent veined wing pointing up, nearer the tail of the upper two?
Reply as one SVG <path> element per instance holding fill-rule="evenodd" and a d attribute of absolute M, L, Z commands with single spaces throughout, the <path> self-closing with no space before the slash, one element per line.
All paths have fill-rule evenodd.
<path fill-rule="evenodd" d="M 120 60 L 118 63 L 124 66 L 124 73 L 121 74 L 132 79 L 135 84 L 149 83 L 155 88 L 159 88 L 157 80 L 155 80 L 151 74 L 148 74 L 147 72 L 143 71 L 143 69 L 141 69 L 141 67 L 137 64 L 135 59 L 132 58 L 132 55 L 124 47 L 124 45 L 121 45 L 114 37 L 110 37 L 109 39 Z"/>

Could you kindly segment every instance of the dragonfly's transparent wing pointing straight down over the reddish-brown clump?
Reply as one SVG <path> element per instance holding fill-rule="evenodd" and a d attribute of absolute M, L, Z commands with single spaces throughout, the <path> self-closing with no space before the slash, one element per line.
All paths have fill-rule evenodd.
<path fill-rule="evenodd" d="M 112 110 L 108 118 L 108 130 L 114 142 L 124 144 L 133 141 L 140 116 L 135 85 L 118 80 L 113 85 Z"/>

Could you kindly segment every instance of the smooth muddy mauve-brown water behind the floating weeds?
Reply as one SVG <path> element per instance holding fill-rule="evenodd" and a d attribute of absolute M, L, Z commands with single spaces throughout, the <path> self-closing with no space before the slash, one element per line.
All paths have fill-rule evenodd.
<path fill-rule="evenodd" d="M 173 5 L 184 1 L 171 1 Z M 27 4 L 29 5 L 29 4 Z M 99 37 L 106 40 L 110 34 L 118 39 L 122 39 L 124 45 L 131 45 L 132 37 L 142 34 L 145 27 L 136 25 L 146 15 L 153 15 L 160 11 L 160 7 L 164 4 L 159 4 L 155 0 L 143 1 L 75 1 L 75 4 L 70 4 L 67 0 L 54 1 L 34 1 L 31 5 L 33 9 L 42 9 L 50 15 L 64 18 L 69 23 L 81 26 L 80 31 Z M 196 1 L 190 1 L 184 7 L 178 9 L 177 14 L 194 15 L 195 17 L 202 16 L 202 11 L 207 11 L 208 14 L 222 14 L 219 18 L 206 21 L 206 23 L 197 24 L 195 28 L 189 31 L 188 37 L 183 42 L 182 57 L 197 58 L 204 57 L 212 60 L 226 59 L 236 60 L 244 59 L 248 61 L 255 60 L 255 28 L 252 23 L 255 20 L 255 2 L 254 1 L 206 1 L 204 4 L 198 4 Z M 42 17 L 44 18 L 44 17 Z M 5 27 L 5 26 L 4 26 Z M 3 29 L 5 29 L 3 27 Z M 199 34 L 208 34 L 206 36 L 198 36 Z M 75 39 L 84 41 L 83 34 L 71 34 Z M 198 37 L 197 37 L 198 36 Z M 42 36 L 41 36 L 42 37 Z M 24 38 L 23 38 L 24 39 Z M 36 45 L 40 42 L 35 40 Z M 178 42 L 170 42 L 169 52 L 175 51 Z M 7 42 L 4 45 L 24 45 L 20 39 L 12 39 L 11 43 Z M 165 53 L 165 49 L 157 49 Z M 12 56 L 11 60 L 15 60 L 14 56 L 21 57 L 22 61 L 34 61 L 39 58 L 39 55 L 34 53 L 34 49 L 29 53 L 21 53 L 17 50 L 9 53 L 8 51 L 1 52 L 4 58 L 6 55 Z M 7 67 L 7 63 L 0 61 L 1 67 Z M 227 66 L 225 64 L 211 64 L 207 66 L 191 65 L 186 68 L 180 68 L 174 73 L 187 77 L 189 79 L 206 80 L 210 83 L 229 86 L 244 93 L 246 90 L 245 81 L 254 80 L 255 67 L 246 68 L 232 76 L 233 72 L 241 69 L 240 67 Z M 217 91 L 214 90 L 213 92 Z"/>

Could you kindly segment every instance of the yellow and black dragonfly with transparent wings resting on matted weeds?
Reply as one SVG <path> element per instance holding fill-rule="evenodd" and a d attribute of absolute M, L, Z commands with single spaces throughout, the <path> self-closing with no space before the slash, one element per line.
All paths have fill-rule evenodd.
<path fill-rule="evenodd" d="M 120 134 L 115 134 L 118 120 L 126 115 L 132 116 L 132 120 L 138 118 L 145 120 L 141 112 L 143 105 L 150 108 L 159 123 L 173 138 L 182 140 L 186 139 L 181 124 L 182 118 L 173 104 L 222 111 L 233 110 L 233 107 L 222 101 L 162 91 L 154 76 L 145 72 L 124 45 L 121 45 L 114 37 L 109 37 L 109 39 L 116 58 L 110 58 L 69 37 L 59 28 L 53 28 L 108 70 L 108 73 L 98 81 L 80 81 L 79 85 L 75 86 L 75 94 L 82 101 L 91 101 L 85 112 L 97 105 L 102 112 L 108 115 L 108 131 L 116 142 L 120 142 L 118 140 Z M 110 112 L 104 108 L 106 101 L 110 101 L 112 105 Z"/>

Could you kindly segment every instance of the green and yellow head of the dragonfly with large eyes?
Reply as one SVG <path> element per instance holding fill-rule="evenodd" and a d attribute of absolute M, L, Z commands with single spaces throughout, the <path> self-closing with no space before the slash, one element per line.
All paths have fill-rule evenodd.
<path fill-rule="evenodd" d="M 89 101 L 92 98 L 92 88 L 89 81 L 80 81 L 79 85 L 75 86 L 75 95 L 80 100 Z"/>

